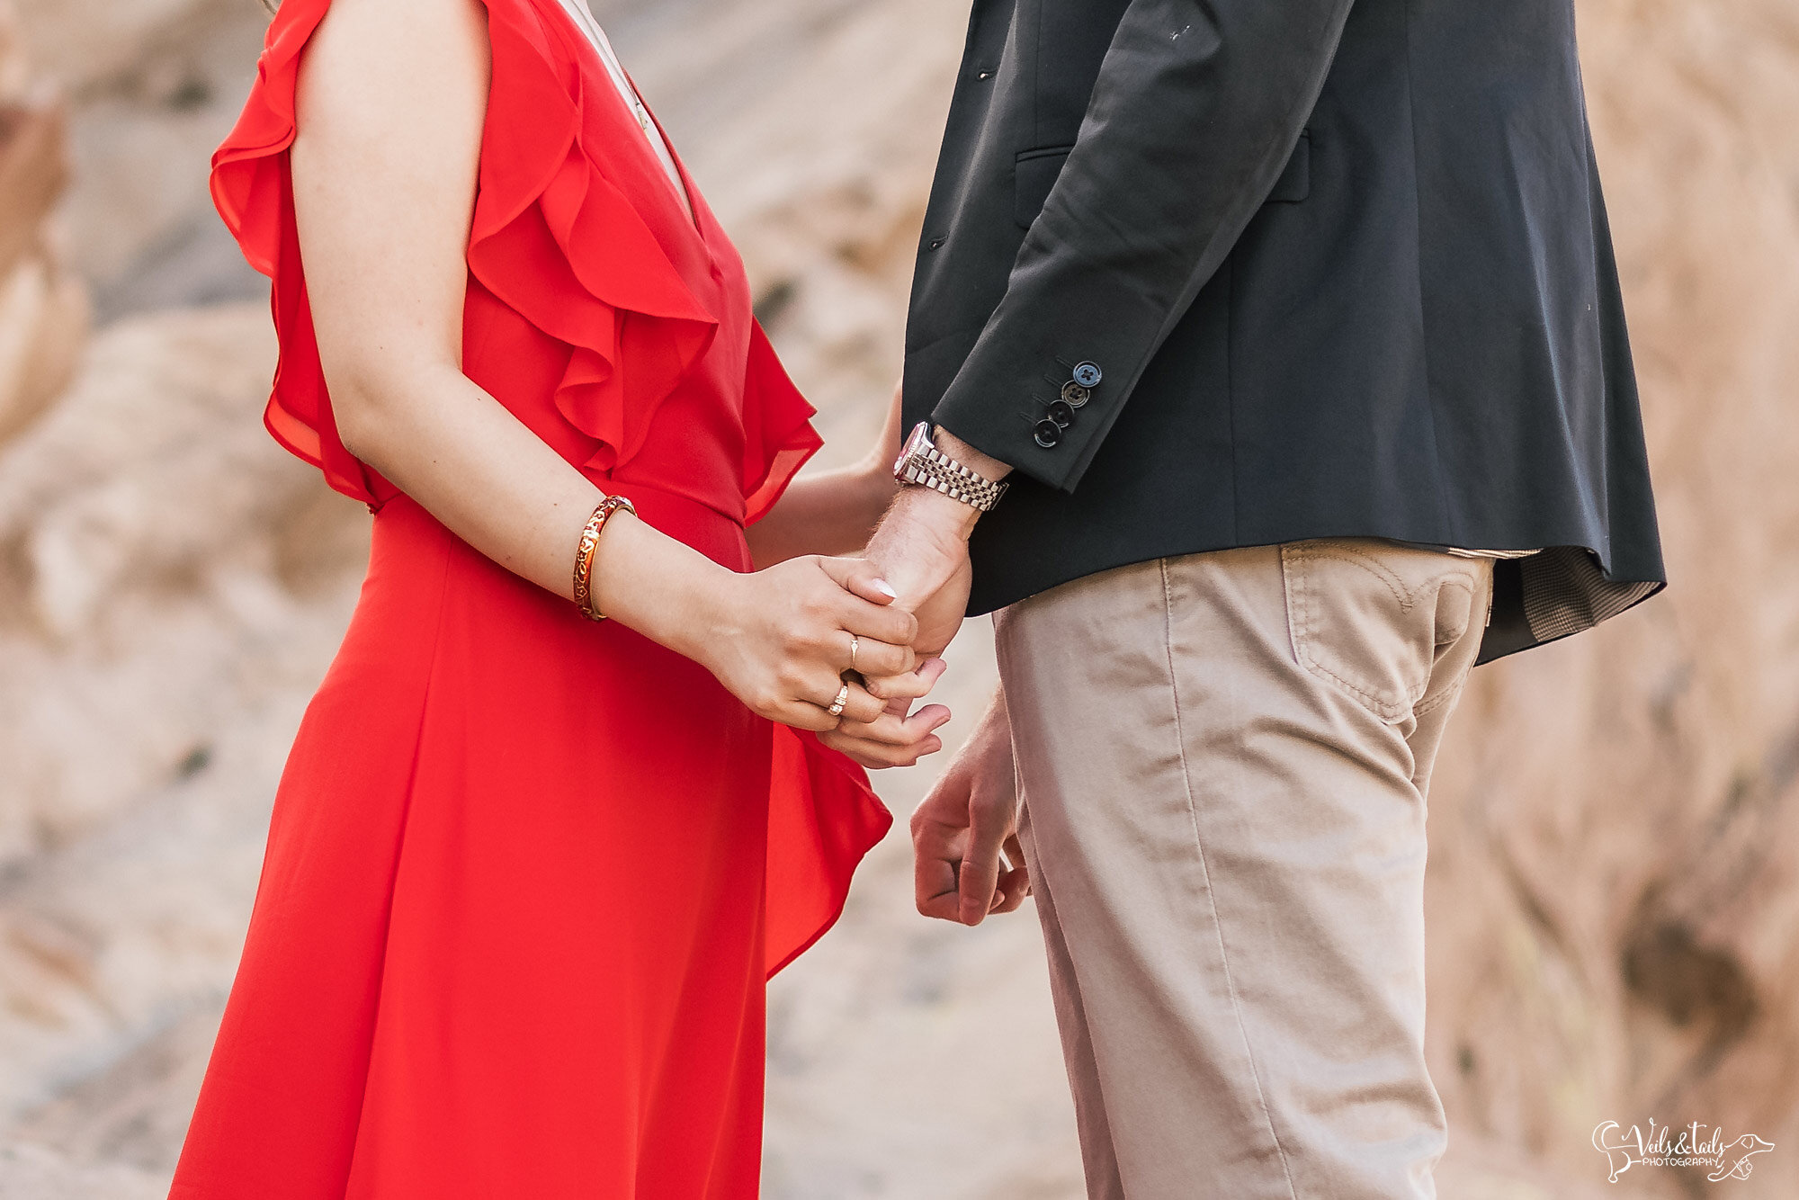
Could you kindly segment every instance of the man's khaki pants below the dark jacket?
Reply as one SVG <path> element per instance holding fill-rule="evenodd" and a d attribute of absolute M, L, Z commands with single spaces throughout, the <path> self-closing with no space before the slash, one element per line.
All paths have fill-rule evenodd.
<path fill-rule="evenodd" d="M 1436 1195 L 1425 788 L 1491 579 L 1301 542 L 998 617 L 1096 1200 Z"/>

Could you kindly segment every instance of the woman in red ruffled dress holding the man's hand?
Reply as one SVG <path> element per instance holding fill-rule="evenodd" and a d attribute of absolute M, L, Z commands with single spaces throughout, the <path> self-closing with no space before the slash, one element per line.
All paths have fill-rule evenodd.
<path fill-rule="evenodd" d="M 806 556 L 892 484 L 788 489 L 811 408 L 577 16 L 284 0 L 214 158 L 273 279 L 268 428 L 374 542 L 180 1200 L 754 1196 L 765 979 L 889 826 L 808 730 L 937 747 L 856 685 L 928 689 L 914 619 Z"/>

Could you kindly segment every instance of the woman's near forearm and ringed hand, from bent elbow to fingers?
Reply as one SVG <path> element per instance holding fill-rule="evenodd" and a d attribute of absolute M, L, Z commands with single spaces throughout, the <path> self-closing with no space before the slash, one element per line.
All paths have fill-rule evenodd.
<path fill-rule="evenodd" d="M 333 392 L 345 448 L 500 567 L 572 597 L 576 547 L 601 489 L 459 371 L 363 362 L 381 365 L 340 371 Z M 615 513 L 592 585 L 610 619 L 693 658 L 761 716 L 826 730 L 842 712 L 882 723 L 892 745 L 917 741 L 883 718 L 882 700 L 840 678 L 858 655 L 880 673 L 916 666 L 917 622 L 889 608 L 892 588 L 869 563 L 804 558 L 738 574 Z"/>

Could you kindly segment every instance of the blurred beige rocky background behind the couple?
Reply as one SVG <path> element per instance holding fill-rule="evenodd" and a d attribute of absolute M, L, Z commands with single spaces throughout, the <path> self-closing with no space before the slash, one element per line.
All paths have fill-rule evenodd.
<path fill-rule="evenodd" d="M 829 453 L 874 435 L 966 0 L 599 0 Z M 1799 0 L 1580 0 L 1673 590 L 1482 667 L 1437 772 L 1448 1200 L 1799 1195 Z M 255 0 L 0 0 L 0 1200 L 160 1196 L 362 507 L 263 434 L 205 160 Z M 991 680 L 971 626 L 961 729 Z M 932 766 L 882 784 L 903 815 Z M 1074 1200 L 1034 918 L 896 835 L 772 997 L 768 1195 Z M 1594 1126 L 1754 1133 L 1632 1168 Z M 1709 1132 L 1709 1130 L 1707 1130 Z M 1196 1180 L 1195 1195 L 1204 1195 Z"/>

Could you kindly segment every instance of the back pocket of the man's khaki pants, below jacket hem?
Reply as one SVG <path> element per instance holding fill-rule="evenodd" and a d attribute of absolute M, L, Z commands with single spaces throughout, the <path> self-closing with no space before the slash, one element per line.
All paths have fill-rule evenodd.
<path fill-rule="evenodd" d="M 1290 542 L 1281 578 L 1293 657 L 1389 725 L 1416 716 L 1439 658 L 1477 615 L 1477 570 L 1374 538 Z"/>

